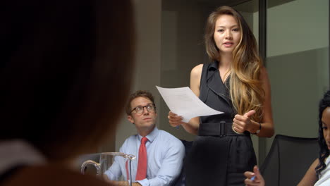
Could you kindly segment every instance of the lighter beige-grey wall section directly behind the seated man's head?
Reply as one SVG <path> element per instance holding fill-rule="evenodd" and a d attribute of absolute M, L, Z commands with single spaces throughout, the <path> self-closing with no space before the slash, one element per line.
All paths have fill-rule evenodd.
<path fill-rule="evenodd" d="M 132 92 L 148 90 L 154 94 L 155 104 L 159 105 L 159 94 L 154 86 L 160 85 L 161 0 L 135 0 L 135 21 L 138 39 Z M 123 115 L 116 132 L 116 151 L 128 136 L 136 133 L 135 126 Z"/>

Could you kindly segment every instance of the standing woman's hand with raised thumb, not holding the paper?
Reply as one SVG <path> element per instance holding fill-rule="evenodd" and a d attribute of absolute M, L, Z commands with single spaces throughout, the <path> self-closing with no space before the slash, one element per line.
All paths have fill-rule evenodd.
<path fill-rule="evenodd" d="M 233 130 L 239 133 L 243 133 L 245 130 L 250 131 L 253 128 L 252 120 L 250 120 L 253 114 L 255 114 L 255 110 L 248 111 L 243 116 L 236 114 L 233 118 Z"/>

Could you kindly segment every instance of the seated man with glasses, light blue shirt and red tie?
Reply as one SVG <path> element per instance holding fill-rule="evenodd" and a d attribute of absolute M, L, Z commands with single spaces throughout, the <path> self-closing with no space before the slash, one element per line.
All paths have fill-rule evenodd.
<path fill-rule="evenodd" d="M 156 106 L 151 93 L 137 91 L 130 94 L 126 105 L 128 120 L 138 130 L 138 135 L 132 135 L 121 146 L 121 152 L 133 154 L 137 159 L 131 161 L 130 175 L 133 185 L 161 186 L 170 185 L 181 173 L 185 147 L 173 135 L 156 127 Z M 121 175 L 130 180 L 128 167 L 124 159 L 115 159 L 113 165 L 106 171 L 109 180 L 117 180 Z M 113 185 L 127 185 L 127 181 L 109 181 Z"/>

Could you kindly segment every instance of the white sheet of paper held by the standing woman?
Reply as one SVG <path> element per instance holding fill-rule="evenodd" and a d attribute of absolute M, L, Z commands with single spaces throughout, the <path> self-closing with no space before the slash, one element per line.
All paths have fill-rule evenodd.
<path fill-rule="evenodd" d="M 178 116 L 183 117 L 183 122 L 188 123 L 197 116 L 210 116 L 224 112 L 216 111 L 203 103 L 189 87 L 162 88 L 156 86 L 169 109 Z"/>

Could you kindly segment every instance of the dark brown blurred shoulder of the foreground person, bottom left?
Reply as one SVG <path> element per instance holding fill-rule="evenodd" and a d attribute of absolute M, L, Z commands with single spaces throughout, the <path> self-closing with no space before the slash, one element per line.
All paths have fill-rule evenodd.
<path fill-rule="evenodd" d="M 66 185 L 93 185 L 106 186 L 106 182 L 99 180 L 94 175 L 82 175 L 79 171 L 73 171 L 61 166 L 28 166 L 18 169 L 8 179 L 2 180 L 3 186 L 66 186 Z M 109 186 L 109 185 L 107 185 Z"/>

